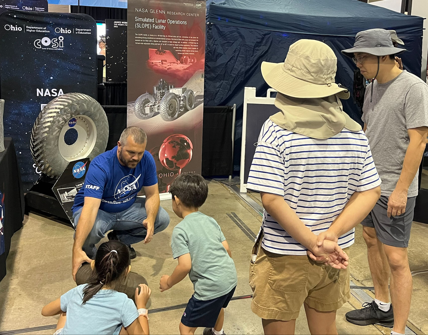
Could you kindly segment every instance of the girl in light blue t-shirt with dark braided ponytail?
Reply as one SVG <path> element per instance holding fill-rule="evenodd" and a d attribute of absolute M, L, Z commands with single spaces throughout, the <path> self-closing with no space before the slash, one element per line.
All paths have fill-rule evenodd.
<path fill-rule="evenodd" d="M 145 284 L 134 302 L 116 291 L 131 271 L 129 248 L 119 241 L 100 245 L 92 261 L 89 284 L 72 288 L 42 309 L 61 314 L 55 334 L 149 334 L 146 304 L 152 293 Z"/>

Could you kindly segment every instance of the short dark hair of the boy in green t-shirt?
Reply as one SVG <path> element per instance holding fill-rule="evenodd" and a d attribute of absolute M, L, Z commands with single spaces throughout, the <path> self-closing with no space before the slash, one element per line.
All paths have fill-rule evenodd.
<path fill-rule="evenodd" d="M 172 198 L 176 196 L 186 207 L 201 207 L 208 197 L 208 185 L 197 173 L 182 173 L 169 187 Z"/>

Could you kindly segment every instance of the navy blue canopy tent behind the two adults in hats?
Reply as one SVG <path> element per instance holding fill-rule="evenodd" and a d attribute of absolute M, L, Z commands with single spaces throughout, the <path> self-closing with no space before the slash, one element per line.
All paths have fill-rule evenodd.
<path fill-rule="evenodd" d="M 420 76 L 423 19 L 358 0 L 223 0 L 207 2 L 205 56 L 206 106 L 236 103 L 235 170 L 238 170 L 244 87 L 264 96 L 268 85 L 260 71 L 263 61 L 283 62 L 290 44 L 301 38 L 328 44 L 337 56 L 336 83 L 351 90 L 345 112 L 361 123 L 352 99 L 355 65 L 340 51 L 353 46 L 357 32 L 394 29 L 407 52 L 404 68 Z"/>

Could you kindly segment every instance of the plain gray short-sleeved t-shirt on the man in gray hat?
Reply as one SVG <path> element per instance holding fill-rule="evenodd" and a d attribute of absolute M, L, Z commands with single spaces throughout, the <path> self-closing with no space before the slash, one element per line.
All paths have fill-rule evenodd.
<path fill-rule="evenodd" d="M 372 102 L 371 85 L 374 85 Z M 384 84 L 375 80 L 366 88 L 362 120 L 367 125 L 366 135 L 382 179 L 382 195 L 389 197 L 403 168 L 409 145 L 407 129 L 428 126 L 428 85 L 407 71 Z M 418 173 L 407 197 L 417 194 Z"/>

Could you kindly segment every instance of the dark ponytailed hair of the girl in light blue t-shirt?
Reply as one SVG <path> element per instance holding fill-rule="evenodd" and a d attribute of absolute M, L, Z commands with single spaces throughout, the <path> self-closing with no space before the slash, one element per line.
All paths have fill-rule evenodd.
<path fill-rule="evenodd" d="M 116 250 L 112 251 L 112 250 Z M 95 255 L 95 269 L 89 284 L 83 289 L 83 302 L 91 299 L 104 285 L 115 288 L 120 284 L 131 264 L 129 248 L 119 241 L 108 241 L 100 245 Z"/>

